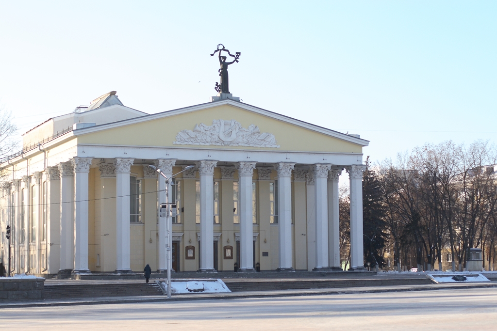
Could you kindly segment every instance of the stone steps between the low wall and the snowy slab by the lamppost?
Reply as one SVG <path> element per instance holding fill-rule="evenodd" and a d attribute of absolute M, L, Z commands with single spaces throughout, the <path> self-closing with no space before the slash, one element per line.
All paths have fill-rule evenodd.
<path fill-rule="evenodd" d="M 163 295 L 159 285 L 151 283 L 109 284 L 45 284 L 45 300 L 68 298 L 119 297 L 138 295 Z"/>

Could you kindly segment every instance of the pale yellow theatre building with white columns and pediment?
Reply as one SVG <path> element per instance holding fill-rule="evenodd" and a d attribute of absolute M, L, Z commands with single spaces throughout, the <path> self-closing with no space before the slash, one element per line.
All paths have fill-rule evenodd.
<path fill-rule="evenodd" d="M 237 99 L 148 115 L 107 93 L 23 135 L 1 160 L 12 273 L 341 270 L 338 180 L 350 178 L 350 269 L 363 269 L 368 141 Z M 7 265 L 8 241 L 2 235 Z"/>

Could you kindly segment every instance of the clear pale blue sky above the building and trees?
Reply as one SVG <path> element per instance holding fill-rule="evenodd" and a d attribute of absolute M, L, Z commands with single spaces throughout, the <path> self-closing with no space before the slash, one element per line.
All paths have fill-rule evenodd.
<path fill-rule="evenodd" d="M 496 141 L 497 1 L 1 0 L 1 104 L 23 133 L 111 90 L 147 113 L 204 103 L 219 43 L 243 102 L 360 134 L 373 160 Z"/>

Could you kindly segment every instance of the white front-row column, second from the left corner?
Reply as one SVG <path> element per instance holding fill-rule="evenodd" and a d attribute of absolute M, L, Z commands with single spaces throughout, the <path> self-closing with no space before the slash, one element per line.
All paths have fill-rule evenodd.
<path fill-rule="evenodd" d="M 116 158 L 116 272 L 131 271 L 129 175 L 132 158 Z"/>

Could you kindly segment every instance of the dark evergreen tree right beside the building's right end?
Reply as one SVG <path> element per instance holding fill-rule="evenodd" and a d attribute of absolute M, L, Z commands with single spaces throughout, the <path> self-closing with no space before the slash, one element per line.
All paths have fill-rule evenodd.
<path fill-rule="evenodd" d="M 386 208 L 383 187 L 376 172 L 371 170 L 370 166 L 368 156 L 362 177 L 364 266 L 369 265 L 374 268 L 378 263 L 378 266 L 383 268 L 386 266 L 382 254 L 387 239 Z"/>

